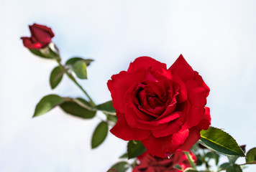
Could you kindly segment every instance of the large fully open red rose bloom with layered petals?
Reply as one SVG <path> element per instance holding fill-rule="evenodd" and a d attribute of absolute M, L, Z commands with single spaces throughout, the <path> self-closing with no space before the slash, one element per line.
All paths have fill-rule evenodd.
<path fill-rule="evenodd" d="M 181 54 L 169 69 L 155 59 L 139 57 L 107 85 L 118 118 L 111 133 L 141 140 L 152 156 L 189 151 L 200 130 L 211 124 L 205 107 L 210 89 Z"/>

